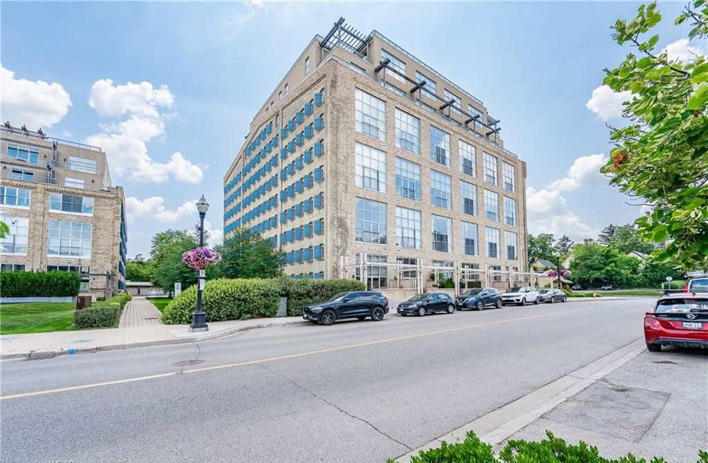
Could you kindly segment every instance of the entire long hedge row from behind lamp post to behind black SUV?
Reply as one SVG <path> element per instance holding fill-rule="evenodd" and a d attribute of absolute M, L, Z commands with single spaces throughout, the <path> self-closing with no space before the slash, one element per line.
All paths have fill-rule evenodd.
<path fill-rule="evenodd" d="M 302 314 L 302 308 L 329 299 L 338 292 L 363 291 L 358 280 L 295 280 L 294 278 L 207 281 L 202 309 L 207 321 L 267 318 L 278 313 L 280 297 L 287 297 L 287 314 Z M 166 324 L 188 324 L 197 307 L 197 287 L 192 285 L 167 304 L 162 314 Z"/>

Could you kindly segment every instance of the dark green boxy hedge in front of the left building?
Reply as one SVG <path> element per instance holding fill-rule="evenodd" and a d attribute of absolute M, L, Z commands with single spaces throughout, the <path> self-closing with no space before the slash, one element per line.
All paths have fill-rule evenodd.
<path fill-rule="evenodd" d="M 0 271 L 0 297 L 75 297 L 79 285 L 74 272 Z"/>

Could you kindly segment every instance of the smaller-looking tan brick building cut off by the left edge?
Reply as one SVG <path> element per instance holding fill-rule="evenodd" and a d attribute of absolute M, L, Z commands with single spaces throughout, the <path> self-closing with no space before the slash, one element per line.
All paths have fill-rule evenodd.
<path fill-rule="evenodd" d="M 0 166 L 2 270 L 73 271 L 86 295 L 125 289 L 125 200 L 101 148 L 6 124 Z"/>

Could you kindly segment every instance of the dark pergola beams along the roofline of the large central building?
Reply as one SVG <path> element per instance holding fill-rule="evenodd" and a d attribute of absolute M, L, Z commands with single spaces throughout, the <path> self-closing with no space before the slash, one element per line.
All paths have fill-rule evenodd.
<path fill-rule="evenodd" d="M 350 25 L 346 24 L 344 22 L 344 18 L 339 18 L 339 20 L 334 23 L 333 28 L 329 30 L 329 33 L 327 33 L 324 38 L 320 41 L 320 47 L 323 48 L 324 50 L 327 50 L 328 52 L 331 51 L 334 47 L 343 47 L 345 50 L 349 50 L 350 52 L 353 52 L 355 55 L 359 55 L 361 57 L 367 57 L 367 48 L 369 41 L 371 40 L 371 36 L 364 35 L 360 33 L 358 30 L 355 28 L 351 27 Z M 325 53 L 323 52 L 323 56 Z M 374 69 L 375 74 L 379 74 L 383 69 L 387 69 L 388 72 L 392 72 L 393 74 L 396 74 L 397 76 L 400 76 L 401 79 L 404 79 L 404 81 L 408 82 L 411 84 L 411 88 L 409 90 L 409 93 L 411 96 L 418 92 L 418 99 L 420 99 L 421 96 L 421 91 L 425 88 L 427 85 L 426 81 L 415 81 L 411 79 L 409 76 L 406 76 L 406 74 L 403 74 L 399 72 L 398 69 L 395 69 L 391 65 L 391 60 L 386 58 L 382 59 L 379 61 L 379 64 L 377 67 Z M 386 81 L 386 75 L 384 73 L 384 76 L 382 77 L 382 81 Z M 447 109 L 447 117 L 450 117 L 450 110 L 455 110 L 456 113 L 459 113 L 460 115 L 464 116 L 464 126 L 466 128 L 469 128 L 470 122 L 476 122 L 479 125 L 482 125 L 483 127 L 486 128 L 486 138 L 489 139 L 492 135 L 494 138 L 494 142 L 496 143 L 496 136 L 498 133 L 501 131 L 501 127 L 498 127 L 498 123 L 501 122 L 499 119 L 492 118 L 489 114 L 486 116 L 486 120 L 481 120 L 481 115 L 479 114 L 470 114 L 467 111 L 463 110 L 462 108 L 458 108 L 455 105 L 455 100 L 450 100 L 446 101 L 445 98 L 442 98 L 438 96 L 435 93 L 426 93 L 426 95 L 430 96 L 430 98 L 435 98 L 438 101 L 440 101 L 440 107 L 438 110 L 440 113 L 445 115 L 443 113 L 445 109 Z"/>

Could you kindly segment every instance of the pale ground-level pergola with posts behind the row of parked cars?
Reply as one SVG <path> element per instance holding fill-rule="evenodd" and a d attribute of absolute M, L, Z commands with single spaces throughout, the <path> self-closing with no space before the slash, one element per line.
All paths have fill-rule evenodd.
<path fill-rule="evenodd" d="M 539 277 L 544 273 L 516 272 L 513 270 L 491 270 L 489 268 L 465 268 L 458 261 L 449 265 L 423 265 L 404 264 L 392 262 L 369 262 L 366 253 L 360 253 L 354 263 L 350 263 L 349 256 L 340 256 L 339 278 L 356 279 L 365 284 L 370 278 L 369 267 L 386 268 L 387 285 L 381 289 L 389 290 L 416 290 L 418 293 L 426 292 L 435 286 L 430 282 L 440 281 L 440 275 L 448 275 L 455 282 L 455 295 L 471 287 L 474 282 L 478 287 L 495 287 L 505 289 L 512 286 L 536 286 Z M 389 271 L 391 270 L 392 271 Z M 393 280 L 389 280 L 389 276 Z M 431 278 L 432 277 L 432 278 Z M 367 285 L 368 286 L 368 285 Z M 452 288 L 449 288 L 452 289 Z"/>

